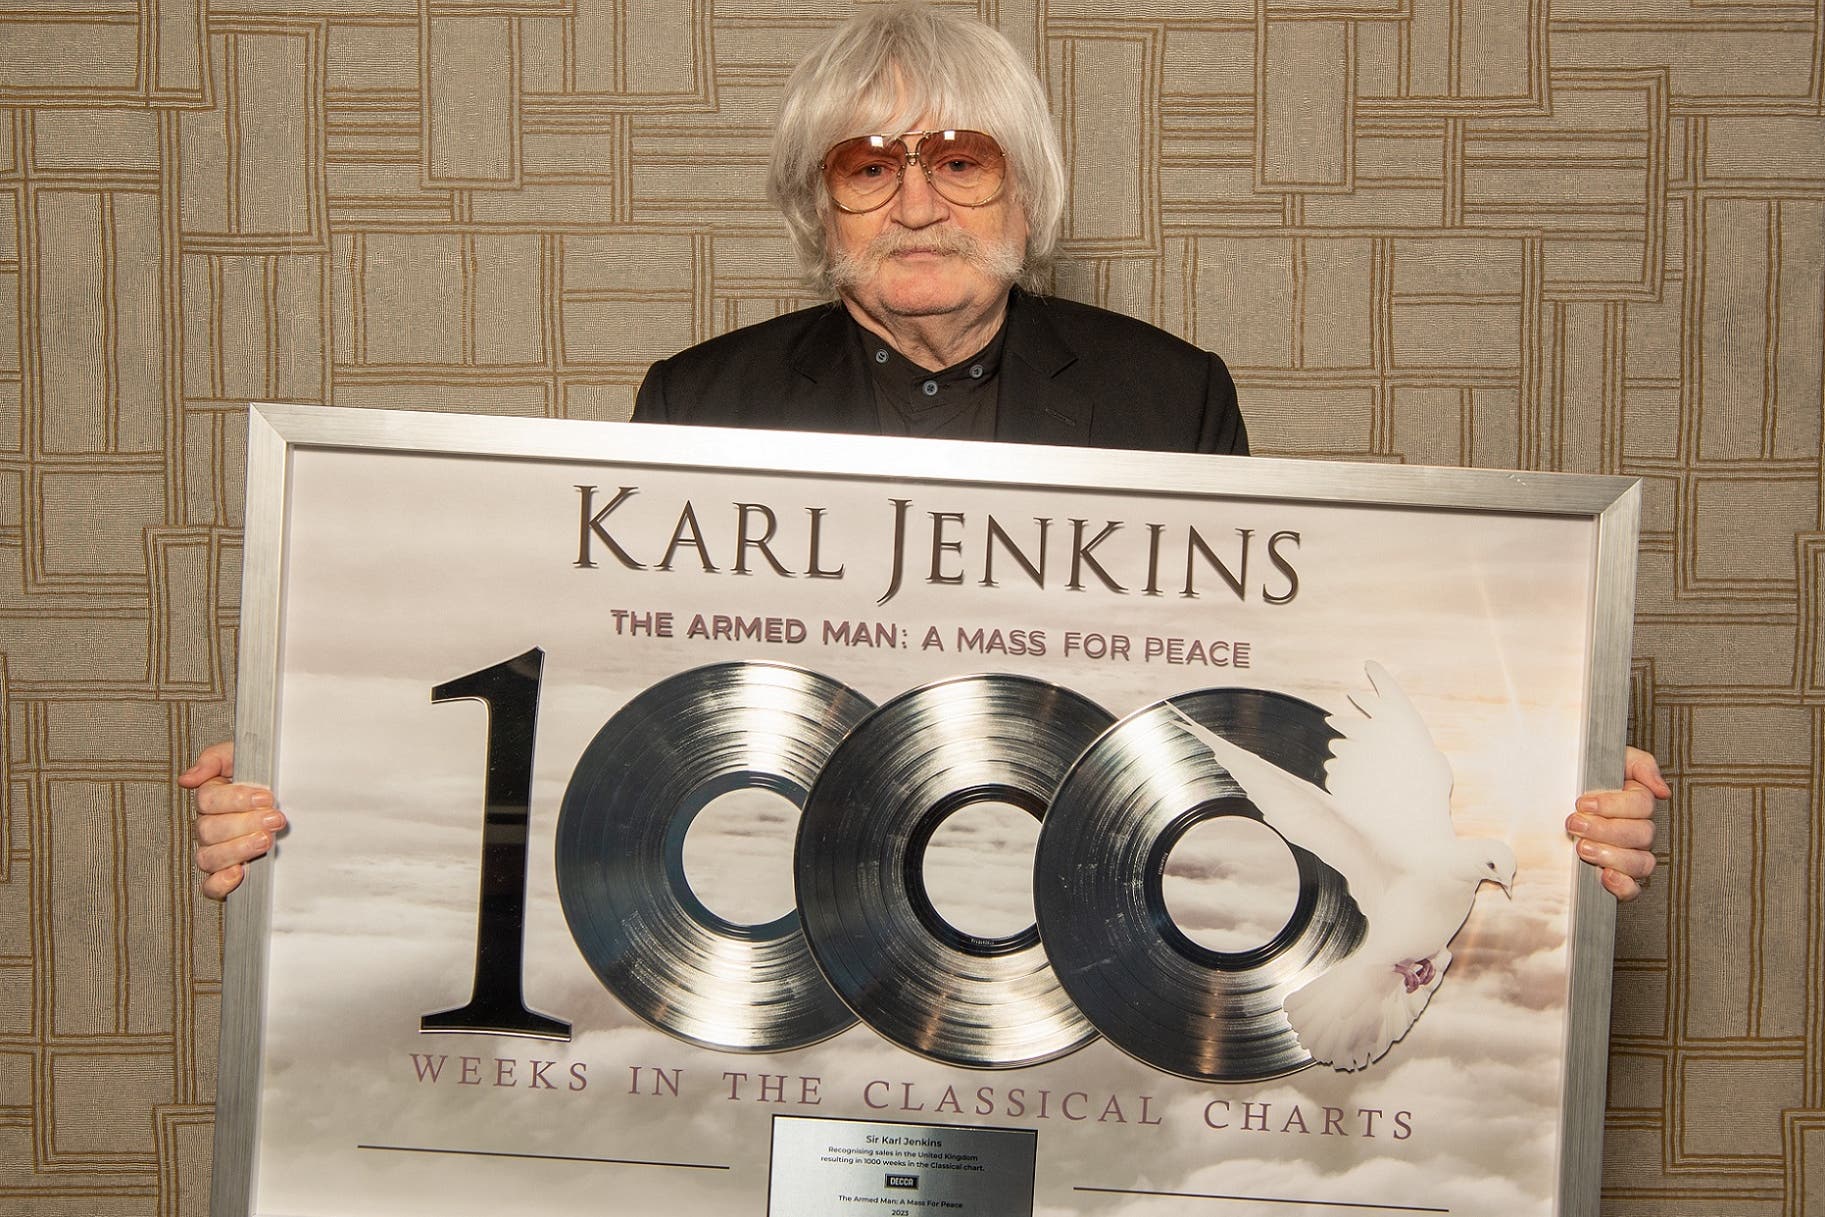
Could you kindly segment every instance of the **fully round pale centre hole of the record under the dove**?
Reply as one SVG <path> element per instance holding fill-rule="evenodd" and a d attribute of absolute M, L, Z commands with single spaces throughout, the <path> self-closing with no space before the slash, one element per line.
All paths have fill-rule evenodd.
<path fill-rule="evenodd" d="M 1194 825 L 1166 856 L 1161 892 L 1199 947 L 1241 954 L 1274 941 L 1299 903 L 1299 865 L 1278 832 L 1246 816 Z"/>

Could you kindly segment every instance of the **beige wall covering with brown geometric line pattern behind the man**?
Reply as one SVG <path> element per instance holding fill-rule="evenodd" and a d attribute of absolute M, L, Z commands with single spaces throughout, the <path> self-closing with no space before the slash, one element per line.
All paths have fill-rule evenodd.
<path fill-rule="evenodd" d="M 0 1213 L 190 1217 L 245 403 L 620 418 L 808 303 L 766 131 L 850 5 L 0 2 Z M 1642 478 L 1604 1212 L 1825 1215 L 1825 2 L 975 11 L 1058 290 L 1223 352 L 1256 451 Z"/>

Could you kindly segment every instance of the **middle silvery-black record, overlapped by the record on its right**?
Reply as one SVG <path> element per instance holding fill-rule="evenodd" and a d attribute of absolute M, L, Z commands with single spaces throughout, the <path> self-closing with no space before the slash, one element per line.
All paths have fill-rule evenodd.
<path fill-rule="evenodd" d="M 799 819 L 799 916 L 825 976 L 880 1035 L 971 1067 L 1029 1066 L 1095 1038 L 1037 929 L 956 929 L 931 903 L 923 856 L 975 803 L 1042 817 L 1110 721 L 1044 681 L 967 675 L 896 697 L 838 746 Z"/>

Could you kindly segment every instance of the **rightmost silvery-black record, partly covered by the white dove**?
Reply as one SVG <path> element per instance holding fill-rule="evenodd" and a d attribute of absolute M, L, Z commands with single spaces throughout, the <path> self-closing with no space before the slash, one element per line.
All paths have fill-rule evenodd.
<path fill-rule="evenodd" d="M 1290 845 L 1299 896 L 1270 941 L 1221 952 L 1173 923 L 1163 892 L 1172 847 L 1221 816 L 1261 821 L 1173 706 L 1323 785 L 1338 732 L 1296 697 L 1204 690 L 1128 715 L 1071 768 L 1040 827 L 1033 903 L 1046 951 L 1097 1031 L 1157 1069 L 1208 1082 L 1292 1073 L 1310 1056 L 1281 1002 L 1354 951 L 1367 923 L 1343 876 Z"/>

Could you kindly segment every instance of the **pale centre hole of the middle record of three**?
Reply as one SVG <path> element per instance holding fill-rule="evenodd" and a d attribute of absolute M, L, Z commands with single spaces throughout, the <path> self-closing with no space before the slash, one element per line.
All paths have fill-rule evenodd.
<path fill-rule="evenodd" d="M 976 938 L 1011 938 L 1033 925 L 1038 821 L 1013 803 L 969 803 L 925 845 L 925 896 L 940 918 Z"/>

